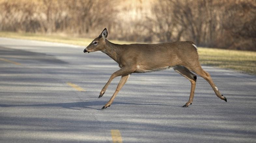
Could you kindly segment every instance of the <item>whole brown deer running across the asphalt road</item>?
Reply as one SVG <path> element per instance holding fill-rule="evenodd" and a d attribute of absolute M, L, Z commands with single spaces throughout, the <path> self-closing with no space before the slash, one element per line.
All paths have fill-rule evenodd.
<path fill-rule="evenodd" d="M 220 91 L 211 79 L 208 72 L 202 69 L 199 63 L 197 46 L 192 41 L 175 41 L 170 43 L 158 44 L 114 44 L 107 40 L 107 28 L 105 28 L 99 37 L 84 49 L 84 53 L 101 51 L 115 60 L 120 70 L 115 71 L 102 88 L 98 98 L 102 97 L 106 92 L 110 82 L 121 76 L 117 88 L 102 109 L 109 107 L 121 90 L 125 82 L 132 73 L 144 73 L 152 71 L 161 71 L 173 68 L 191 82 L 191 91 L 189 101 L 182 107 L 192 105 L 197 75 L 204 78 L 212 87 L 215 94 L 222 100 L 227 102 L 227 98 L 220 94 Z M 192 73 L 194 72 L 194 73 Z"/>

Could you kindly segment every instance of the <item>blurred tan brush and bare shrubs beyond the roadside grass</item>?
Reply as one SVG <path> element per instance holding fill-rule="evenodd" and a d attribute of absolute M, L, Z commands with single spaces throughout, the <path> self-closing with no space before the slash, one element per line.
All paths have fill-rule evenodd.
<path fill-rule="evenodd" d="M 0 0 L 0 31 L 256 51 L 255 0 Z"/>

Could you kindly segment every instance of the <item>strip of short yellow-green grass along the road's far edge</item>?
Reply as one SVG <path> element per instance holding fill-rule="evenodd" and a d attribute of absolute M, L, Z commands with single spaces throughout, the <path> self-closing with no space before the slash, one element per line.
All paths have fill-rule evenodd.
<path fill-rule="evenodd" d="M 87 46 L 93 39 L 72 38 L 67 36 L 43 35 L 32 33 L 1 32 L 0 37 L 21 38 L 31 40 L 41 40 L 50 42 L 60 42 L 74 45 Z M 131 44 L 134 42 L 110 40 L 117 44 Z M 201 64 L 233 69 L 256 75 L 256 52 L 238 51 L 227 49 L 198 48 L 199 60 Z"/>

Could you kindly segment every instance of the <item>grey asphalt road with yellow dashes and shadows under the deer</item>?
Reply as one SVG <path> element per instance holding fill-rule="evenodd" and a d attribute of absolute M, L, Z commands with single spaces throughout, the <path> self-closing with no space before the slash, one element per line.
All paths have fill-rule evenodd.
<path fill-rule="evenodd" d="M 85 45 L 87 46 L 87 45 Z M 118 64 L 84 47 L 0 38 L 0 142 L 256 142 L 256 77 L 208 66 L 227 103 L 173 69 L 133 73 L 111 107 Z M 76 84 L 78 91 L 67 84 Z"/>

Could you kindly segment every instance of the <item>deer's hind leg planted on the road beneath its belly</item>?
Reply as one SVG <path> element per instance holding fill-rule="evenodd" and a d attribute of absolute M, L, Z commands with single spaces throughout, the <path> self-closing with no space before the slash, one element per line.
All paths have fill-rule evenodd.
<path fill-rule="evenodd" d="M 192 105 L 192 102 L 193 102 L 195 84 L 196 84 L 196 75 L 183 66 L 175 66 L 173 69 L 191 82 L 191 91 L 190 91 L 189 101 L 185 105 L 183 105 L 183 107 L 188 107 L 189 105 Z"/>

